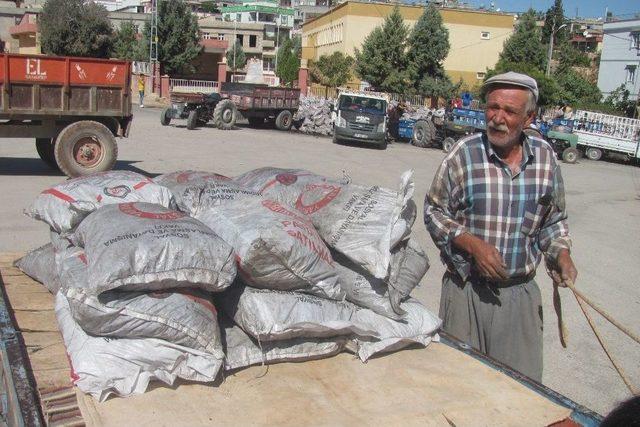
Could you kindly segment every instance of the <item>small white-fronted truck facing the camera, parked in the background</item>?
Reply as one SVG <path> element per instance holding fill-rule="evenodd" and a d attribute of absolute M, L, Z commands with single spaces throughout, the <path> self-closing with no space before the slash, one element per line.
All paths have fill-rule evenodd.
<path fill-rule="evenodd" d="M 333 142 L 364 142 L 387 148 L 386 94 L 368 91 L 342 91 L 335 106 Z"/>

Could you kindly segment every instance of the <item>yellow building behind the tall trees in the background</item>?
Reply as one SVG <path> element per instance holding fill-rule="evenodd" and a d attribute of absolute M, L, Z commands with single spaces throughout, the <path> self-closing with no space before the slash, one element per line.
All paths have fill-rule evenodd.
<path fill-rule="evenodd" d="M 348 1 L 302 26 L 302 66 L 308 60 L 341 51 L 354 55 L 364 39 L 391 13 L 394 4 Z M 439 9 L 449 30 L 449 55 L 444 68 L 455 83 L 469 86 L 482 81 L 488 68 L 498 62 L 502 47 L 514 31 L 515 17 L 504 13 L 468 9 Z M 405 23 L 413 28 L 422 6 L 400 5 Z"/>

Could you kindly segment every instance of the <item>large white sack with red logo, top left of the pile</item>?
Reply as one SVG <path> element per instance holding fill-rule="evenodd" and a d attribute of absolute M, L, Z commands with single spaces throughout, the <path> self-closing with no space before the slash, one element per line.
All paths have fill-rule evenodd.
<path fill-rule="evenodd" d="M 186 214 L 150 203 L 103 206 L 73 235 L 84 248 L 94 295 L 121 291 L 200 288 L 233 282 L 231 246 Z"/>

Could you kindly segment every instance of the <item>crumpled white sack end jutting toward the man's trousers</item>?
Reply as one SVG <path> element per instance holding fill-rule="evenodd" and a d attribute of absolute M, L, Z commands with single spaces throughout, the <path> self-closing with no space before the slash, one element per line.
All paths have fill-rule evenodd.
<path fill-rule="evenodd" d="M 371 310 L 358 310 L 354 322 L 361 328 L 374 329 L 377 335 L 356 340 L 360 360 L 366 362 L 378 353 L 397 351 L 413 344 L 426 346 L 431 342 L 442 320 L 414 298 L 403 302 L 401 307 L 406 312 L 402 321 L 391 320 Z"/>

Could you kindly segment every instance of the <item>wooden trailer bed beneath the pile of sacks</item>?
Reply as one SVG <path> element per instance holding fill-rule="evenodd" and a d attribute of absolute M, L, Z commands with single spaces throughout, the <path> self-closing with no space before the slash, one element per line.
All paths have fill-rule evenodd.
<path fill-rule="evenodd" d="M 26 402 L 25 421 L 31 413 L 51 424 L 91 426 L 573 426 L 574 420 L 597 425 L 597 414 L 540 384 L 514 378 L 508 369 L 446 339 L 366 364 L 342 353 L 304 363 L 255 366 L 227 374 L 215 386 L 153 383 L 145 394 L 99 403 L 72 387 L 53 296 L 12 267 L 19 256 L 0 254 L 0 286 L 3 309 L 15 322 L 15 335 L 26 350 L 30 378 L 17 393 L 26 397 L 20 399 Z M 7 331 L 3 327 L 3 349 L 11 346 Z M 12 367 L 17 362 L 6 351 L 2 358 L 7 380 L 7 362 Z M 13 386 L 19 381 L 14 378 Z M 5 389 L 12 386 L 8 382 Z M 29 386 L 35 395 L 32 402 L 40 400 L 42 405 L 29 408 Z"/>

